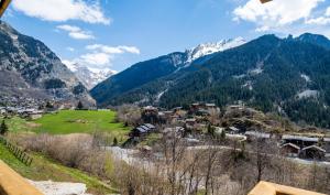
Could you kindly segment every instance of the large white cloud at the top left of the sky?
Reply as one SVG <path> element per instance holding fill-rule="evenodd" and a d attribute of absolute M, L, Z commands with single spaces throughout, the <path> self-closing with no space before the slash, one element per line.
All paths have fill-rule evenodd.
<path fill-rule="evenodd" d="M 16 11 L 45 21 L 80 20 L 102 24 L 111 22 L 102 12 L 99 1 L 90 3 L 84 0 L 13 0 L 12 4 Z"/>

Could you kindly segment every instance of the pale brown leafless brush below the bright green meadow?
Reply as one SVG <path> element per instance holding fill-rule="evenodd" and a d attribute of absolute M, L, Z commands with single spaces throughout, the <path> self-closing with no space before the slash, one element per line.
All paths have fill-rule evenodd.
<path fill-rule="evenodd" d="M 107 155 L 94 145 L 91 136 L 38 134 L 16 139 L 16 142 L 25 150 L 41 152 L 66 166 L 105 176 Z"/>

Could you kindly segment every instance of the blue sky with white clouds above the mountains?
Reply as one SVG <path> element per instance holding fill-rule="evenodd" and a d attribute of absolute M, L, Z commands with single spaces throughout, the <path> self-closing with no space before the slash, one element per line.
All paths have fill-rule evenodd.
<path fill-rule="evenodd" d="M 65 63 L 120 72 L 205 42 L 262 34 L 330 36 L 328 0 L 13 0 L 4 21 Z"/>

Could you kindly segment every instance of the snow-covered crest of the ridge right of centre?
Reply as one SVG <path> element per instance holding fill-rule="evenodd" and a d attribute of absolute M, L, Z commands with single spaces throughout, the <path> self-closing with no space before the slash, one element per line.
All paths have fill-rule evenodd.
<path fill-rule="evenodd" d="M 246 41 L 243 37 L 222 40 L 216 43 L 204 43 L 186 51 L 188 54 L 187 62 L 190 63 L 199 57 L 233 48 L 245 43 Z"/>

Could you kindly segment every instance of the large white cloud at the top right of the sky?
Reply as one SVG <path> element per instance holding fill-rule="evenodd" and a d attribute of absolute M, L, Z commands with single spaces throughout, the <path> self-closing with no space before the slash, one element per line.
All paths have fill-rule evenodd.
<path fill-rule="evenodd" d="M 234 9 L 234 20 L 250 21 L 257 31 L 289 25 L 311 17 L 312 10 L 324 0 L 276 0 L 262 4 L 260 0 L 249 0 Z"/>

